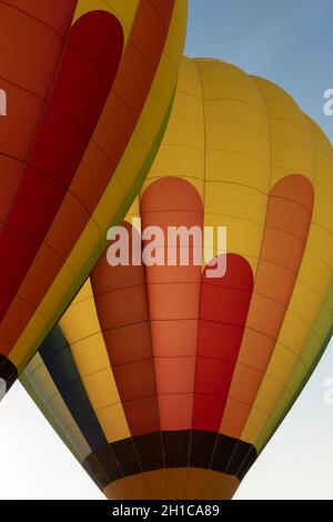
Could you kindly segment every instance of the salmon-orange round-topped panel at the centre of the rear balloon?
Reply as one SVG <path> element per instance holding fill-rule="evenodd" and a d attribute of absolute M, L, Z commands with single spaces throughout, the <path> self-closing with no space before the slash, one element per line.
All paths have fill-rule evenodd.
<path fill-rule="evenodd" d="M 168 227 L 202 230 L 202 201 L 186 181 L 164 178 L 144 191 L 141 217 L 143 230 L 158 225 L 165 239 Z M 190 245 L 188 267 L 147 267 L 161 429 L 165 431 L 192 425 L 201 267 L 192 263 L 195 244 Z"/>

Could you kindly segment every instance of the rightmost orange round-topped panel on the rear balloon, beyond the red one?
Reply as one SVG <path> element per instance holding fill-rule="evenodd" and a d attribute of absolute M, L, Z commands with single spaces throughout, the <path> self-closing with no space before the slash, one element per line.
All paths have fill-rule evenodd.
<path fill-rule="evenodd" d="M 271 190 L 253 298 L 220 429 L 228 435 L 241 435 L 275 348 L 303 259 L 312 210 L 313 188 L 303 175 L 283 178 Z"/>

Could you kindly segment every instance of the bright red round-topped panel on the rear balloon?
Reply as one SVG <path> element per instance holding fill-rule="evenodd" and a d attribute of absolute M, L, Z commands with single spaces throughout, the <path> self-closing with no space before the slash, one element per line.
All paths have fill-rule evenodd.
<path fill-rule="evenodd" d="M 219 431 L 253 291 L 245 259 L 226 254 L 226 273 L 202 274 L 193 429 Z"/>

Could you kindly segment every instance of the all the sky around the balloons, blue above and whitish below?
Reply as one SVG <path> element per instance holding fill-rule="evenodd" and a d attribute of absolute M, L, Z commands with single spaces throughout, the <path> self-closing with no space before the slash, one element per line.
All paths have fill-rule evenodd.
<path fill-rule="evenodd" d="M 190 0 L 186 53 L 275 81 L 333 141 L 333 117 L 323 113 L 323 92 L 333 89 L 332 20 L 332 0 Z M 330 378 L 333 343 L 236 498 L 333 499 Z M 0 404 L 0 499 L 103 498 L 18 384 Z"/>

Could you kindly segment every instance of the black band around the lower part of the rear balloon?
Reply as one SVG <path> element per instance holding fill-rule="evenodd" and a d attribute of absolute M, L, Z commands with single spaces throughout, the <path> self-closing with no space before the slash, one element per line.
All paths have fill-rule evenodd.
<path fill-rule="evenodd" d="M 101 489 L 123 476 L 163 468 L 201 468 L 241 481 L 256 456 L 255 448 L 248 442 L 209 431 L 183 430 L 103 444 L 83 466 Z"/>

